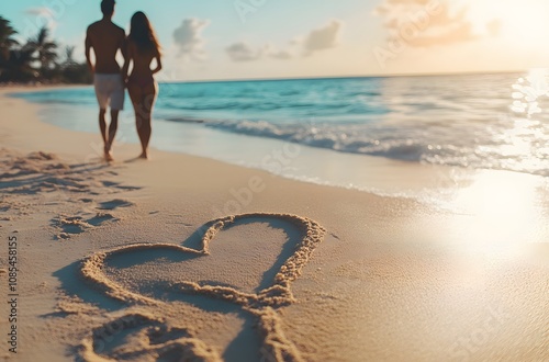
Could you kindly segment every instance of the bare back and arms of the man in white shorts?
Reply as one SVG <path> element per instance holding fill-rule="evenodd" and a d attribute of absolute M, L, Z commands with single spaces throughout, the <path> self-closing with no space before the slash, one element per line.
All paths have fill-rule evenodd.
<path fill-rule="evenodd" d="M 96 53 L 93 71 L 102 75 L 120 73 L 121 67 L 116 61 L 119 49 L 124 55 L 125 32 L 110 20 L 100 20 L 88 27 L 86 46 L 92 47 Z"/>

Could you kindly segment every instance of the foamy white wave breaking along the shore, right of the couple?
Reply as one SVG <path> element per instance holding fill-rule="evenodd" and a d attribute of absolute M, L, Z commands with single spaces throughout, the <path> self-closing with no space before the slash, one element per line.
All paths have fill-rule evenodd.
<path fill-rule="evenodd" d="M 422 129 L 363 124 L 274 124 L 266 121 L 206 121 L 204 126 L 240 135 L 268 137 L 339 152 L 444 165 L 460 168 L 497 169 L 549 176 L 549 150 L 515 154 L 503 151 L 506 145 L 479 147 L 478 139 L 450 143 L 429 139 Z M 427 134 L 427 135 L 426 135 Z M 430 135 L 433 136 L 433 135 Z M 455 135 L 453 135 L 455 136 Z M 466 136 L 466 135 L 463 135 Z M 458 137 L 466 139 L 463 137 Z"/>

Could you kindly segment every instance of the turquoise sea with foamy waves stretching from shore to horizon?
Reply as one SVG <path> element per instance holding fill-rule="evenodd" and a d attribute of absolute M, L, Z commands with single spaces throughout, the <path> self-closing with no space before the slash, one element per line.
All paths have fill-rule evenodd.
<path fill-rule="evenodd" d="M 343 152 L 547 177 L 547 84 L 545 71 L 163 83 L 153 145 L 220 159 L 233 152 L 232 161 L 246 163 L 257 145 L 282 140 L 323 150 L 323 157 Z M 91 88 L 18 97 L 71 114 L 53 120 L 55 112 L 46 112 L 52 123 L 97 132 Z M 130 127 L 127 100 L 126 110 Z"/>

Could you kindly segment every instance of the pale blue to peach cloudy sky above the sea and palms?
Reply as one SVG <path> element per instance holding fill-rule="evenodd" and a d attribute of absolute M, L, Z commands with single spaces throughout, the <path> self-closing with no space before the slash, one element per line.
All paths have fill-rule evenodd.
<path fill-rule="evenodd" d="M 99 0 L 2 1 L 24 41 L 43 25 L 83 60 Z M 549 65 L 547 0 L 117 0 L 144 11 L 164 81 L 506 71 Z"/>

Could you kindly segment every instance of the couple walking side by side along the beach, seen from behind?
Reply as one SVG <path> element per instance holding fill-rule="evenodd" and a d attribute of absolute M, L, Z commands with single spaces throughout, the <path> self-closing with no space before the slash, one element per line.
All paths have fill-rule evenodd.
<path fill-rule="evenodd" d="M 135 123 L 142 145 L 141 158 L 147 159 L 150 139 L 150 116 L 158 94 L 158 84 L 153 75 L 160 71 L 160 49 L 155 32 L 143 12 L 132 16 L 130 35 L 112 22 L 114 0 L 103 0 L 103 19 L 91 24 L 86 35 L 86 58 L 94 75 L 94 88 L 99 102 L 99 127 L 104 143 L 104 158 L 112 161 L 112 146 L 119 126 L 119 112 L 124 108 L 124 89 L 132 100 Z M 91 61 L 91 49 L 96 64 Z M 122 69 L 116 61 L 119 50 L 124 57 Z M 153 59 L 156 67 L 150 69 Z M 130 65 L 133 64 L 128 75 Z M 107 128 L 105 114 L 111 109 L 111 123 Z"/>

